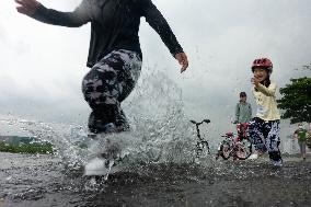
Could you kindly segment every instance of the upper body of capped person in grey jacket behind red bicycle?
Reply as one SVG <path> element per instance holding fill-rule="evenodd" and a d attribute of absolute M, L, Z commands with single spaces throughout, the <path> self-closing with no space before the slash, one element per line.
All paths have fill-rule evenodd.
<path fill-rule="evenodd" d="M 252 119 L 252 106 L 246 102 L 246 93 L 240 93 L 240 102 L 235 106 L 235 120 L 238 123 L 249 123 Z"/>

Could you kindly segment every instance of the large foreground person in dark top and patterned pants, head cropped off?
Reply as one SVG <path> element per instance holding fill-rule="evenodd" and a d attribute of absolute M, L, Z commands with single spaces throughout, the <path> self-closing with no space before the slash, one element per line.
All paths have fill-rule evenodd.
<path fill-rule="evenodd" d="M 91 42 L 82 81 L 82 92 L 92 108 L 91 133 L 128 129 L 120 103 L 130 94 L 140 74 L 142 54 L 139 44 L 140 18 L 145 16 L 161 36 L 173 57 L 188 67 L 183 48 L 168 22 L 151 0 L 82 0 L 73 12 L 45 8 L 36 0 L 15 0 L 18 11 L 37 21 L 79 27 L 91 22 Z"/>

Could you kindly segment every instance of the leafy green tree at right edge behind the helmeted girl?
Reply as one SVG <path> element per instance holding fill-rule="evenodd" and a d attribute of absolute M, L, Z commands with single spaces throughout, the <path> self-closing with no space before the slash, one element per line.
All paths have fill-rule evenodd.
<path fill-rule="evenodd" d="M 311 123 L 311 78 L 290 79 L 291 83 L 279 90 L 283 97 L 277 100 L 278 107 L 284 110 L 281 118 L 291 124 Z"/>

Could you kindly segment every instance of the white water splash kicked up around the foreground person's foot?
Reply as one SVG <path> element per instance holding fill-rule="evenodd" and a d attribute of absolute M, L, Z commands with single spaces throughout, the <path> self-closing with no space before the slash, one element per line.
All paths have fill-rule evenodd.
<path fill-rule="evenodd" d="M 100 135 L 96 140 L 85 138 L 85 126 L 32 122 L 11 118 L 12 125 L 42 141 L 54 145 L 56 156 L 69 170 L 81 170 L 88 159 L 116 148 L 127 171 L 141 172 L 140 163 L 193 163 L 196 136 L 184 114 L 182 91 L 165 74 L 147 70 L 123 107 L 129 117 L 130 133 Z M 77 139 L 72 129 L 79 129 Z M 88 148 L 81 147 L 85 143 Z M 143 173 L 143 172 L 142 172 Z"/>

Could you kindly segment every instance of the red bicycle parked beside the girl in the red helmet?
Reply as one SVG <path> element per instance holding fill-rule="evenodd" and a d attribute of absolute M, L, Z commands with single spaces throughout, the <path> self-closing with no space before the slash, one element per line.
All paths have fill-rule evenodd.
<path fill-rule="evenodd" d="M 230 157 L 233 160 L 246 160 L 252 154 L 252 142 L 247 136 L 247 123 L 240 123 L 237 125 L 238 136 L 234 137 L 233 133 L 227 133 L 221 137 L 224 137 L 218 147 L 218 153 L 216 160 L 222 157 L 223 160 L 228 160 Z"/>

